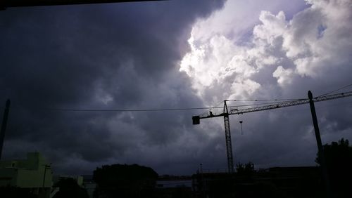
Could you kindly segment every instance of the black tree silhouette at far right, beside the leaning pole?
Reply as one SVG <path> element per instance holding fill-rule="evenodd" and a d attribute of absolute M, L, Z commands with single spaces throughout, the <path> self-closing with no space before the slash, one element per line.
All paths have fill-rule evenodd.
<path fill-rule="evenodd" d="M 342 138 L 339 142 L 323 146 L 327 172 L 334 194 L 349 197 L 352 194 L 352 146 Z M 318 156 L 318 154 L 317 154 Z M 320 157 L 315 159 L 320 164 Z"/>

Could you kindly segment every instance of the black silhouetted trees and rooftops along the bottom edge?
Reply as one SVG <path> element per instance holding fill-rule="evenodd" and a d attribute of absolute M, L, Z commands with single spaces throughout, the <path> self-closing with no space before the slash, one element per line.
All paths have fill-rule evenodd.
<path fill-rule="evenodd" d="M 323 146 L 329 183 L 334 198 L 351 197 L 352 194 L 352 146 L 341 139 Z M 320 164 L 317 157 L 315 161 Z M 163 177 L 161 177 L 163 178 Z M 161 179 L 159 178 L 159 179 Z M 236 164 L 235 173 L 198 171 L 191 177 L 166 178 L 168 182 L 191 185 L 156 185 L 158 173 L 137 164 L 113 164 L 96 168 L 96 198 L 139 197 L 326 197 L 320 166 L 273 167 L 256 171 L 254 165 Z M 165 179 L 165 177 L 163 178 Z M 177 181 L 179 180 L 179 181 Z M 61 180 L 54 198 L 86 198 L 87 191 L 75 180 Z M 0 187 L 0 197 L 38 197 L 30 190 L 18 187 Z"/>

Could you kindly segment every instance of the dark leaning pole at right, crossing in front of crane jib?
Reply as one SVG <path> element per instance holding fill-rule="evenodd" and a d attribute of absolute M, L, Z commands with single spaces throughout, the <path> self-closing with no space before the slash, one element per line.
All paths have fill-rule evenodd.
<path fill-rule="evenodd" d="M 326 162 L 325 162 L 324 151 L 322 148 L 322 139 L 320 138 L 318 119 L 317 119 L 317 114 L 315 112 L 313 94 L 311 91 L 308 91 L 308 98 L 309 98 L 310 112 L 312 113 L 315 138 L 317 139 L 318 157 L 320 159 L 320 166 L 322 168 L 322 179 L 324 180 L 324 183 L 325 183 L 325 190 L 327 191 L 327 197 L 332 197 L 332 192 L 331 192 L 330 184 L 329 184 L 329 177 L 327 174 L 327 166 L 326 166 Z"/>

